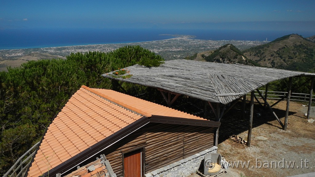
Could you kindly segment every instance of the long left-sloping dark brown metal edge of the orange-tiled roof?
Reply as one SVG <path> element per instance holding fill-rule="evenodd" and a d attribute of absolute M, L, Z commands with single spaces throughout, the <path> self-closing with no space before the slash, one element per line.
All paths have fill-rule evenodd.
<path fill-rule="evenodd" d="M 107 147 L 111 146 L 112 144 L 116 143 L 118 140 L 124 138 L 128 134 L 134 132 L 138 128 L 149 123 L 148 117 L 141 117 L 137 121 L 130 123 L 125 128 L 118 130 L 116 133 L 111 134 L 110 136 L 106 137 L 105 139 L 97 142 L 95 145 L 89 147 L 88 149 L 78 153 L 74 157 L 71 157 L 67 161 L 59 164 L 58 166 L 50 169 L 48 172 L 41 175 L 41 177 L 45 176 L 55 176 L 58 173 L 66 173 L 70 169 L 78 166 L 79 164 L 83 163 L 84 161 L 88 160 L 89 158 L 93 157 L 100 151 L 105 150 Z"/>

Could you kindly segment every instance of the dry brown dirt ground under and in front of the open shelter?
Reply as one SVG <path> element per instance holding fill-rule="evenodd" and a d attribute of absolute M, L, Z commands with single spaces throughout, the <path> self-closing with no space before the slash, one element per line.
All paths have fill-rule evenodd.
<path fill-rule="evenodd" d="M 268 100 L 271 105 L 275 100 Z M 221 120 L 218 153 L 229 162 L 227 176 L 279 176 L 315 172 L 315 122 L 306 119 L 307 102 L 290 102 L 288 128 L 284 131 L 271 112 L 254 106 L 251 147 L 232 141 L 231 135 L 238 135 L 247 140 L 249 110 L 242 118 L 240 106 L 229 111 Z M 247 106 L 249 107 L 249 106 Z M 273 110 L 284 123 L 286 101 L 281 101 Z M 314 111 L 310 114 L 315 117 Z M 248 168 L 242 167 L 246 162 Z M 236 163 L 239 163 L 236 167 Z M 222 176 L 222 175 L 221 175 Z"/>

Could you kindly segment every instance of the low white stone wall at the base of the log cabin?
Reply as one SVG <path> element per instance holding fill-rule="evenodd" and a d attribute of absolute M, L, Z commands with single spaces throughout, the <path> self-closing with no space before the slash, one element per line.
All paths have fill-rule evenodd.
<path fill-rule="evenodd" d="M 165 167 L 156 169 L 150 173 L 145 174 L 146 177 L 186 177 L 193 173 L 196 173 L 200 165 L 203 157 L 209 153 L 217 153 L 218 147 L 213 146 L 209 149 L 201 151 L 197 154 L 189 156 L 180 161 L 174 162 L 172 164 L 166 165 Z"/>

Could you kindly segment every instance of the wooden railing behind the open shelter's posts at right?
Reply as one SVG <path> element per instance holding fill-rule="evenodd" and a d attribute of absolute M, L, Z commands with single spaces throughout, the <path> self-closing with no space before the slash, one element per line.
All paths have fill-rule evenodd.
<path fill-rule="evenodd" d="M 265 95 L 265 90 L 260 90 L 262 95 Z M 274 99 L 279 100 L 283 96 L 285 96 L 288 92 L 274 92 L 274 91 L 267 91 L 267 99 Z M 255 91 L 255 95 L 259 94 Z M 290 100 L 292 101 L 309 101 L 310 94 L 301 94 L 301 93 L 291 93 Z M 312 102 L 315 102 L 315 95 L 312 95 Z"/>

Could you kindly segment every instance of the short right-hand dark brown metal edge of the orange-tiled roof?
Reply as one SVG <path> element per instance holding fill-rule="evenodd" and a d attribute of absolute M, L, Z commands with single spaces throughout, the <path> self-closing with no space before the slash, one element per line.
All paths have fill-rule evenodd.
<path fill-rule="evenodd" d="M 150 119 L 150 122 L 152 123 L 170 123 L 170 124 L 195 125 L 195 126 L 216 127 L 216 128 L 219 128 L 221 125 L 221 122 L 215 122 L 212 120 L 198 120 L 198 119 L 158 116 L 158 115 L 152 115 L 152 117 L 149 117 L 149 119 Z"/>

